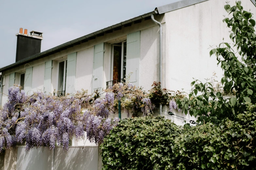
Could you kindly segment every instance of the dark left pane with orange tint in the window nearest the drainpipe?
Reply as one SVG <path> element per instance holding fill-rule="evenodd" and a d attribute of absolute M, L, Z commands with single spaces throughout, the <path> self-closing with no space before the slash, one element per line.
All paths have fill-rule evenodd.
<path fill-rule="evenodd" d="M 113 80 L 117 80 L 121 78 L 122 46 L 114 46 L 113 53 Z"/>

